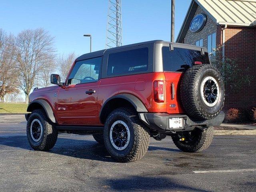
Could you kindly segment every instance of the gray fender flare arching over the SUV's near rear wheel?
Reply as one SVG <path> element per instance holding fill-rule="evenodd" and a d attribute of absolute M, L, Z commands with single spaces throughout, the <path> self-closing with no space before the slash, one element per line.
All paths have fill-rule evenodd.
<path fill-rule="evenodd" d="M 99 113 L 100 121 L 102 121 L 101 119 L 102 119 L 102 112 L 104 112 L 104 107 L 110 100 L 115 99 L 115 98 L 122 98 L 122 99 L 127 100 L 134 106 L 134 108 L 136 109 L 137 112 L 148 112 L 148 110 L 146 109 L 144 104 L 136 96 L 127 94 L 127 93 L 123 93 L 123 94 L 118 94 L 118 95 L 112 96 L 104 102 L 104 104 L 102 105 L 102 107 L 100 109 L 100 113 Z"/>

